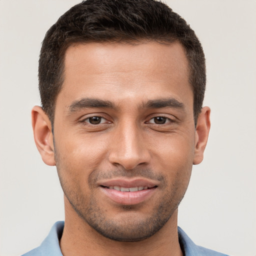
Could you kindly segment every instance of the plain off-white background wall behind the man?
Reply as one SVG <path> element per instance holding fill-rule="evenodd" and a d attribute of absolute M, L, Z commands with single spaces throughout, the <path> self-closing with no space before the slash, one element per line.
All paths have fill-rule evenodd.
<path fill-rule="evenodd" d="M 0 255 L 37 246 L 64 218 L 55 167 L 33 142 L 37 61 L 46 30 L 77 0 L 0 0 Z M 178 224 L 197 244 L 256 255 L 256 1 L 168 0 L 200 38 L 211 131 Z"/>

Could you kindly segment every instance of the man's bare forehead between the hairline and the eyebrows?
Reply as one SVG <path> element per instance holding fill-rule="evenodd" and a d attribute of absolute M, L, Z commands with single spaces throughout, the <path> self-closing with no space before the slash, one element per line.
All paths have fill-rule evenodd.
<path fill-rule="evenodd" d="M 65 52 L 58 98 L 121 102 L 170 96 L 182 101 L 188 94 L 192 97 L 188 74 L 188 60 L 178 42 L 79 43 Z"/>

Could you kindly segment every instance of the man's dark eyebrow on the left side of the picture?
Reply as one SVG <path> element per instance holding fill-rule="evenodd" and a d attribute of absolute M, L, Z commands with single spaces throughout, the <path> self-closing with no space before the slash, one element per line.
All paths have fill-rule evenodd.
<path fill-rule="evenodd" d="M 109 100 L 102 100 L 97 98 L 81 98 L 73 101 L 68 107 L 68 113 L 78 111 L 88 107 L 103 107 L 115 108 L 115 105 Z"/>

